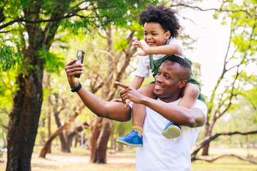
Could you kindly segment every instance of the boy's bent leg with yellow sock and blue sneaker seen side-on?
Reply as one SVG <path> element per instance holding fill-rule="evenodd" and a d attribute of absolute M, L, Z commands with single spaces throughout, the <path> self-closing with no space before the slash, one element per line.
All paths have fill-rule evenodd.
<path fill-rule="evenodd" d="M 138 89 L 138 91 L 149 98 L 156 98 L 156 95 L 153 94 L 153 88 L 154 88 L 154 84 L 151 83 Z M 117 142 L 124 145 L 141 147 L 143 145 L 142 131 L 143 131 L 143 121 L 145 117 L 146 117 L 146 106 L 133 103 L 132 131 L 128 135 L 118 138 Z"/>

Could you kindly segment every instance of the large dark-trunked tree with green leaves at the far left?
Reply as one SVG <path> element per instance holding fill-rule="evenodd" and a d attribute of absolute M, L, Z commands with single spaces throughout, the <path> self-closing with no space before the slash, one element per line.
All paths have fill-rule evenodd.
<path fill-rule="evenodd" d="M 16 46 L 16 51 L 21 56 L 19 63 L 21 67 L 16 76 L 19 89 L 15 92 L 13 109 L 9 115 L 6 170 L 31 170 L 31 153 L 43 100 L 44 66 L 54 64 L 56 68 L 60 66 L 55 62 L 58 59 L 49 53 L 58 29 L 70 28 L 70 31 L 76 32 L 80 28 L 89 28 L 89 26 L 121 24 L 129 16 L 128 10 L 140 7 L 141 2 L 128 1 L 126 4 L 121 1 L 70 0 L 0 2 L 0 31 L 13 37 L 11 46 Z M 9 45 L 4 44 L 1 48 L 9 48 Z"/>

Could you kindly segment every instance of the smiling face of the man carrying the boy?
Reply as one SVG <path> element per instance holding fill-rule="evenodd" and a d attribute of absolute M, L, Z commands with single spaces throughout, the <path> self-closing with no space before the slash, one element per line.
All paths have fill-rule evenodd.
<path fill-rule="evenodd" d="M 166 103 L 181 97 L 181 83 L 183 81 L 181 82 L 178 77 L 180 71 L 181 68 L 178 63 L 167 60 L 161 64 L 154 78 L 155 87 L 153 93 Z"/>

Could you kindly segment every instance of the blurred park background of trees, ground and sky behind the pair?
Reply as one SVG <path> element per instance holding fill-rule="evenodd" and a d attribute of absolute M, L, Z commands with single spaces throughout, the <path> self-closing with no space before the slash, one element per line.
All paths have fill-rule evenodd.
<path fill-rule="evenodd" d="M 131 121 L 97 118 L 64 67 L 84 50 L 79 81 L 119 98 L 114 81 L 130 85 L 139 59 L 138 14 L 161 3 L 178 11 L 178 39 L 208 106 L 191 170 L 257 170 L 256 0 L 2 0 L 0 170 L 135 170 L 136 148 L 116 143 Z"/>

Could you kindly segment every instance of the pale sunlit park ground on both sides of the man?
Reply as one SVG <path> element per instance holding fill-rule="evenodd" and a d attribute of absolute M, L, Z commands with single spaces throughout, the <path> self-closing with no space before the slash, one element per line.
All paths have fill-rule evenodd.
<path fill-rule="evenodd" d="M 226 149 L 226 150 L 224 150 Z M 220 154 L 221 151 L 241 154 L 245 157 L 246 149 L 242 148 L 212 148 L 211 154 Z M 31 160 L 32 171 L 132 171 L 135 170 L 136 148 L 126 148 L 123 152 L 108 152 L 107 164 L 89 163 L 89 150 L 81 148 L 72 148 L 73 153 L 63 153 L 59 148 L 52 148 L 52 153 L 46 155 L 46 159 L 39 158 L 41 147 L 34 147 L 34 153 Z M 257 154 L 257 150 L 251 150 L 251 155 Z M 256 156 L 254 156 L 256 157 Z M 257 157 L 256 157 L 257 158 Z M 4 152 L 6 161 L 6 152 Z M 0 163 L 0 171 L 4 171 L 6 163 Z M 239 160 L 235 157 L 223 157 L 214 162 L 195 161 L 192 163 L 191 171 L 257 171 L 257 165 Z"/>

